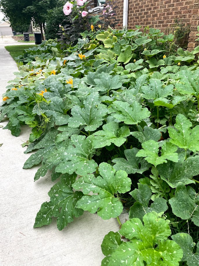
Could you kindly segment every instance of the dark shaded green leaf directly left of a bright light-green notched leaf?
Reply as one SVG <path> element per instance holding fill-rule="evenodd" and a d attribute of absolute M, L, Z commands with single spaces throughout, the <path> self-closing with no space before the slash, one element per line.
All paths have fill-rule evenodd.
<path fill-rule="evenodd" d="M 139 152 L 139 149 L 132 148 L 124 150 L 124 154 L 127 158 L 115 158 L 112 160 L 115 165 L 113 168 L 118 170 L 124 170 L 127 174 L 142 174 L 144 171 L 148 170 L 150 164 L 147 163 L 143 158 L 136 157 L 136 154 Z"/>

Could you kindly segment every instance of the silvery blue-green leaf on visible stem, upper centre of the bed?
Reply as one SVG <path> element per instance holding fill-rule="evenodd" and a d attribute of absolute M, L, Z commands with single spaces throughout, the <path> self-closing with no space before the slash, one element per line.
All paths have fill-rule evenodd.
<path fill-rule="evenodd" d="M 94 82 L 98 91 L 110 91 L 120 89 L 122 82 L 119 75 L 109 75 L 108 73 L 102 72 L 99 78 L 95 78 Z"/>

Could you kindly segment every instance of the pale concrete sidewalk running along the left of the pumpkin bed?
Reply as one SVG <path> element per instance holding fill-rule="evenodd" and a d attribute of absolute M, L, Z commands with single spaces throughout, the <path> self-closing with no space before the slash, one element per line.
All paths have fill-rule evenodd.
<path fill-rule="evenodd" d="M 0 47 L 0 94 L 13 79 L 17 66 Z M 5 126 L 7 122 L 0 125 Z M 100 266 L 101 243 L 109 232 L 119 229 L 116 219 L 102 220 L 85 212 L 64 230 L 58 231 L 56 219 L 50 226 L 33 229 L 37 212 L 53 183 L 50 175 L 34 182 L 38 167 L 22 169 L 30 154 L 21 144 L 29 138 L 31 128 L 22 128 L 19 137 L 0 128 L 0 265 L 1 266 Z M 123 215 L 122 222 L 124 222 Z"/>

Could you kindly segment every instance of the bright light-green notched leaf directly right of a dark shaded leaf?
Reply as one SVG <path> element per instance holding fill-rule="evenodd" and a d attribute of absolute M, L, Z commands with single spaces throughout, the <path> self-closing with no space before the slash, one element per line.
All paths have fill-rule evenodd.
<path fill-rule="evenodd" d="M 166 160 L 178 162 L 177 147 L 170 142 L 165 142 L 162 145 L 161 156 L 158 155 L 159 147 L 162 144 L 155 140 L 147 140 L 142 143 L 142 148 L 136 154 L 137 157 L 146 157 L 148 163 L 152 163 L 155 167 L 161 163 L 167 163 Z"/>

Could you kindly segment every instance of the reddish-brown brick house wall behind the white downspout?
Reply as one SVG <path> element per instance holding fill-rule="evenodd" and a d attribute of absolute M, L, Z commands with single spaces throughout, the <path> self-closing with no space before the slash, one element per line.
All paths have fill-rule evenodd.
<path fill-rule="evenodd" d="M 120 26 L 123 21 L 123 0 L 117 1 L 117 17 Z M 175 19 L 182 20 L 185 25 L 191 24 L 191 33 L 188 47 L 193 48 L 197 44 L 197 26 L 199 25 L 199 0 L 129 0 L 128 3 L 128 29 L 141 25 L 157 29 L 168 29 L 175 23 Z"/>

